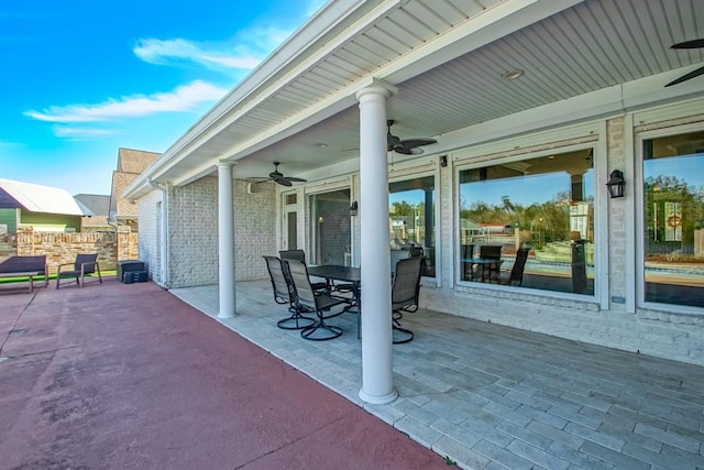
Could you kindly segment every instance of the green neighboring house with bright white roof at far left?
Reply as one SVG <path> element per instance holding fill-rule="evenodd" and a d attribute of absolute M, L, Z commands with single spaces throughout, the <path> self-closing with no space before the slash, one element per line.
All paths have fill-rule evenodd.
<path fill-rule="evenodd" d="M 80 231 L 87 216 L 92 212 L 64 189 L 0 179 L 0 227 L 8 233 L 20 226 L 36 231 Z"/>

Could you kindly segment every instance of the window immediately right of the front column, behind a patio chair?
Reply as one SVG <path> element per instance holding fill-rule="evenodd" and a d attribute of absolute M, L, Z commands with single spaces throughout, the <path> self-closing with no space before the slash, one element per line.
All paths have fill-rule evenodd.
<path fill-rule="evenodd" d="M 435 176 L 388 185 L 389 240 L 393 251 L 422 249 L 424 275 L 436 276 Z M 396 256 L 398 258 L 398 256 Z M 392 252 L 392 259 L 396 259 Z M 403 256 L 402 256 L 403 258 Z"/>

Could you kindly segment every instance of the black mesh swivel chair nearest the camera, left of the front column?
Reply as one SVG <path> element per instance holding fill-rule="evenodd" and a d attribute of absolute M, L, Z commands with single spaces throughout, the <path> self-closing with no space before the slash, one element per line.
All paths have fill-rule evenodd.
<path fill-rule="evenodd" d="M 326 315 L 326 311 L 337 305 L 345 304 L 343 298 L 333 297 L 326 292 L 316 292 L 310 285 L 310 278 L 308 277 L 308 267 L 302 261 L 292 261 L 288 263 L 288 272 L 293 281 L 293 294 L 294 304 L 299 311 L 310 310 L 315 311 L 318 316 L 318 321 L 307 328 L 300 330 L 300 336 L 304 339 L 311 341 L 326 341 L 334 339 L 342 335 L 342 328 L 333 325 L 328 325 L 327 319 L 342 315 L 345 310 L 342 309 L 334 314 Z"/>

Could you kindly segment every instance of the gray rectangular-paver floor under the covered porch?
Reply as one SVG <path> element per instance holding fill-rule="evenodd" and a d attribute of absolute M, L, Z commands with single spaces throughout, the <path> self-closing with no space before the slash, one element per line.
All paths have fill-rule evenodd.
<path fill-rule="evenodd" d="M 173 294 L 216 317 L 218 287 Z M 468 469 L 704 469 L 704 368 L 430 310 L 394 346 L 399 398 L 363 403 L 356 318 L 302 340 L 268 282 L 238 283 L 224 325 Z M 422 293 L 421 293 L 422 295 Z"/>

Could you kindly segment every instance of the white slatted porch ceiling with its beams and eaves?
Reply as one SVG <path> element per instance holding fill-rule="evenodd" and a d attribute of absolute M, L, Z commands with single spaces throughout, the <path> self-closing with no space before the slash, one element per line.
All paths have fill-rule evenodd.
<path fill-rule="evenodd" d="M 515 0 L 342 0 L 328 9 L 338 3 L 355 3 L 358 11 L 315 40 L 299 37 L 310 50 L 246 97 L 235 89 L 229 97 L 235 106 L 226 109 L 226 98 L 213 108 L 163 157 L 178 164 L 154 175 L 185 182 L 229 157 L 238 161 L 237 177 L 264 176 L 274 161 L 285 174 L 305 176 L 355 160 L 359 112 L 351 90 L 370 77 L 398 87 L 387 111 L 397 121 L 394 134 L 438 139 L 425 147 L 433 153 L 449 150 L 443 138 L 452 131 L 681 69 L 676 77 L 704 62 L 704 50 L 670 48 L 704 37 L 702 0 L 543 0 L 529 7 Z M 525 75 L 502 79 L 512 69 Z M 678 87 L 704 90 L 704 76 L 690 81 Z"/>

